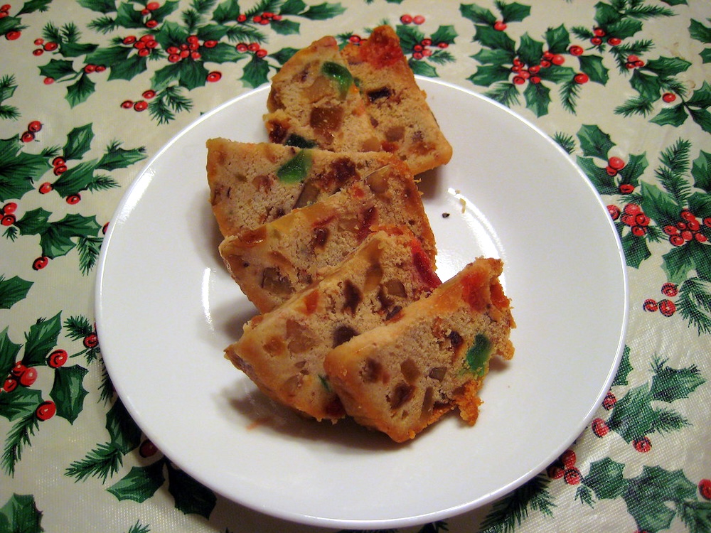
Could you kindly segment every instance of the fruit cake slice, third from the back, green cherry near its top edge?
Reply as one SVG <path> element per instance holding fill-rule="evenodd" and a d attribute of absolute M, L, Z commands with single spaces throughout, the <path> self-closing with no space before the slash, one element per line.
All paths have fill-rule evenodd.
<path fill-rule="evenodd" d="M 314 203 L 397 161 L 383 152 L 336 154 L 227 139 L 210 139 L 207 148 L 210 203 L 225 236 Z"/>

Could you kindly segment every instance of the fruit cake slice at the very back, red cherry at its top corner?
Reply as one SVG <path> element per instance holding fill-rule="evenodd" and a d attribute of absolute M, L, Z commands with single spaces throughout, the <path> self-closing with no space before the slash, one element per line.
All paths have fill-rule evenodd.
<path fill-rule="evenodd" d="M 427 99 L 390 26 L 378 26 L 368 39 L 341 51 L 355 77 L 383 148 L 410 165 L 413 174 L 444 165 L 451 145 L 442 134 Z"/>

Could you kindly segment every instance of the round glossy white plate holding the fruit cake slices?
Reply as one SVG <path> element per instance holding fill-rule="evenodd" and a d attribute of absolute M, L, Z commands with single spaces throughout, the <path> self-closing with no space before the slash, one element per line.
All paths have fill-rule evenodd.
<path fill-rule="evenodd" d="M 476 426 L 456 414 L 395 445 L 269 402 L 223 359 L 255 308 L 217 253 L 205 140 L 266 140 L 267 87 L 178 134 L 127 191 L 102 249 L 97 326 L 119 396 L 166 456 L 255 510 L 306 524 L 405 527 L 491 502 L 583 431 L 614 378 L 627 284 L 616 231 L 570 158 L 505 107 L 418 78 L 454 158 L 424 176 L 442 279 L 505 261 L 518 328 Z M 443 213 L 449 213 L 443 217 Z"/>

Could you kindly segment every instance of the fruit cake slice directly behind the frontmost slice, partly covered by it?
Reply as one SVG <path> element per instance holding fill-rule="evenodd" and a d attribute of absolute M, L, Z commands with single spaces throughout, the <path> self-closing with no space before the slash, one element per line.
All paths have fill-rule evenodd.
<path fill-rule="evenodd" d="M 344 416 L 324 372 L 332 348 L 440 284 L 417 238 L 383 228 L 288 301 L 252 318 L 225 357 L 272 399 L 317 420 Z"/>

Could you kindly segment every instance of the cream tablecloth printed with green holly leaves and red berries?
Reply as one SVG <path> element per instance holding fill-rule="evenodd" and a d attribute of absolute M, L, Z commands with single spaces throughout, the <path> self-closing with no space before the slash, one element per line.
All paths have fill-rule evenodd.
<path fill-rule="evenodd" d="M 630 284 L 619 371 L 570 450 L 492 505 L 400 531 L 711 532 L 707 0 L 0 6 L 0 532 L 313 529 L 215 495 L 145 438 L 102 364 L 92 295 L 109 218 L 166 141 L 315 38 L 380 23 L 416 74 L 501 102 L 577 161 Z M 526 172 L 515 146 L 503 163 Z M 545 231 L 581 224 L 560 205 Z"/>

